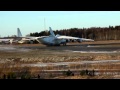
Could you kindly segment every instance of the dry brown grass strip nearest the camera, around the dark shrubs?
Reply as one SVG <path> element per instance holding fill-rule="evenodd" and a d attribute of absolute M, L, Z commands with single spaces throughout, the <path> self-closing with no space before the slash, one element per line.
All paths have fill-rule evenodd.
<path fill-rule="evenodd" d="M 8 75 L 11 72 L 14 72 L 16 75 L 18 75 L 17 77 L 20 77 L 22 74 L 24 74 L 26 71 L 29 73 L 29 75 L 31 75 L 33 78 L 37 77 L 38 74 L 43 74 L 44 70 L 65 70 L 64 66 L 58 66 L 57 67 L 53 67 L 53 66 L 47 66 L 47 67 L 21 67 L 21 62 L 14 62 L 14 63 L 0 63 L 0 77 L 2 78 L 3 75 Z M 100 75 L 99 76 L 80 76 L 80 75 L 75 75 L 75 76 L 60 76 L 58 74 L 55 73 L 50 73 L 48 72 L 48 74 L 46 76 L 43 76 L 44 78 L 59 78 L 59 79 L 107 79 L 107 78 L 112 78 L 114 75 L 110 74 L 110 75 L 105 75 L 104 72 L 106 72 L 106 70 L 113 70 L 112 72 L 116 72 L 116 70 L 119 70 L 120 68 L 120 64 L 71 64 L 68 68 L 66 68 L 66 70 L 70 69 L 76 69 L 78 70 L 93 70 L 93 69 L 99 69 Z M 115 70 L 115 71 L 114 71 Z"/>

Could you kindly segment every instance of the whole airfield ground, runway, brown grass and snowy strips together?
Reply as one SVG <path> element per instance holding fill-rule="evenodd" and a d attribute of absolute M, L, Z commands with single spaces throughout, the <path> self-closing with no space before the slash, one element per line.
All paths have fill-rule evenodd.
<path fill-rule="evenodd" d="M 20 72 L 29 70 L 32 77 L 39 74 L 45 79 L 119 78 L 120 40 L 72 42 L 67 46 L 0 45 L 0 62 L 1 77 L 13 71 L 22 75 Z M 80 75 L 80 71 L 86 69 L 97 73 Z M 74 72 L 74 76 L 63 74 L 68 70 Z"/>

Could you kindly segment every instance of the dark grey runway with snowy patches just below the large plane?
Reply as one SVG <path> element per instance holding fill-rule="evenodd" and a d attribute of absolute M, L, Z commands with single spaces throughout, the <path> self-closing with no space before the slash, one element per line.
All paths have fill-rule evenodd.
<path fill-rule="evenodd" d="M 30 50 L 69 51 L 80 53 L 120 53 L 120 45 L 89 45 L 74 44 L 67 46 L 44 46 L 44 45 L 0 45 L 0 51 L 29 52 Z"/>

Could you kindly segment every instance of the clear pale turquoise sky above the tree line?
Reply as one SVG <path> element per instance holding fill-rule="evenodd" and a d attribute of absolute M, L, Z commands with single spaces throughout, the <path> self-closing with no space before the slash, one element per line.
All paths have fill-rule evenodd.
<path fill-rule="evenodd" d="M 120 11 L 0 11 L 0 36 L 120 25 Z"/>

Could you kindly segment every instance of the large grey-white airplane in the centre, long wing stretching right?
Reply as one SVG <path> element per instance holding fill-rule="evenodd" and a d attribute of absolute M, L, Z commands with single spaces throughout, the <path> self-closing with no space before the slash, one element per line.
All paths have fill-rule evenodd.
<path fill-rule="evenodd" d="M 39 42 L 42 44 L 48 45 L 48 46 L 60 46 L 60 44 L 66 45 L 66 40 L 72 39 L 72 40 L 78 40 L 80 42 L 82 41 L 94 41 L 92 39 L 85 39 L 85 38 L 78 38 L 78 37 L 72 37 L 72 36 L 61 36 L 61 35 L 56 35 L 52 31 L 51 27 L 49 27 L 50 31 L 50 36 L 48 37 L 42 37 L 42 38 L 37 38 Z"/>

